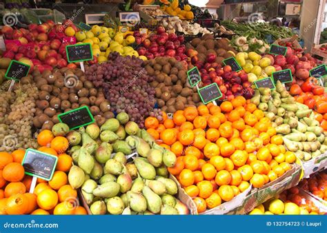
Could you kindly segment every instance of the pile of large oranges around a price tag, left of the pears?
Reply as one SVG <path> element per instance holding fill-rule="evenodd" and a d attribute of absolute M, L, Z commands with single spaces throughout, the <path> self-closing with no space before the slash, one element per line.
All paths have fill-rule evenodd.
<path fill-rule="evenodd" d="M 68 184 L 72 158 L 65 154 L 67 139 L 43 130 L 37 141 L 40 151 L 58 156 L 52 179 L 37 179 L 34 193 L 29 193 L 32 176 L 25 175 L 21 165 L 25 151 L 0 152 L 0 214 L 87 214 L 78 205 L 77 190 Z"/>

